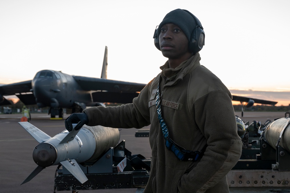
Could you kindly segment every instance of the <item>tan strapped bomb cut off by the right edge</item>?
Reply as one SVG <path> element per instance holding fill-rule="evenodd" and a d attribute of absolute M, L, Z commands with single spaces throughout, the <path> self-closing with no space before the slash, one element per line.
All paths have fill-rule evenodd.
<path fill-rule="evenodd" d="M 289 112 L 287 112 L 290 114 Z M 270 122 L 264 130 L 264 137 L 267 143 L 276 149 L 276 145 L 279 141 L 279 145 L 290 152 L 290 117 L 279 118 Z M 282 133 L 282 136 L 281 136 Z"/>

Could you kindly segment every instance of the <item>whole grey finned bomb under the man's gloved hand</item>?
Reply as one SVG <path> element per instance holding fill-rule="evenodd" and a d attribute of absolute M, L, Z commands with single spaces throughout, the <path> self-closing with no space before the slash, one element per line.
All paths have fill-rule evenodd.
<path fill-rule="evenodd" d="M 29 182 L 39 172 L 51 165 L 63 165 L 80 183 L 88 178 L 78 163 L 94 162 L 109 148 L 115 147 L 120 139 L 119 129 L 84 125 L 79 130 L 67 130 L 50 137 L 29 122 L 19 124 L 39 143 L 32 158 L 37 168 L 23 181 Z M 76 124 L 73 124 L 75 127 Z M 21 184 L 21 185 L 22 185 Z"/>

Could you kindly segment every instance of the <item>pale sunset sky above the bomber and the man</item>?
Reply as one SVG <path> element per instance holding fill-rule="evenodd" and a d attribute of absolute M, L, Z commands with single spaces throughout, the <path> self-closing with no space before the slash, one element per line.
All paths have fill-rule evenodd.
<path fill-rule="evenodd" d="M 201 21 L 200 63 L 232 94 L 290 103 L 289 0 L 1 0 L 0 83 L 43 69 L 100 77 L 105 46 L 108 79 L 148 83 L 166 62 L 154 30 L 176 8 Z"/>

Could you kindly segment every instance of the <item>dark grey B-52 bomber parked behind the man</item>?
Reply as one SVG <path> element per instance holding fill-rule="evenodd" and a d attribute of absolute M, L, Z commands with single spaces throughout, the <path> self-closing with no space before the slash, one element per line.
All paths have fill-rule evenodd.
<path fill-rule="evenodd" d="M 41 70 L 33 80 L 5 84 L 0 86 L 0 106 L 10 102 L 5 95 L 16 95 L 25 105 L 37 104 L 38 107 L 50 107 L 51 118 L 63 118 L 63 109 L 67 113 L 82 112 L 87 106 L 104 106 L 105 102 L 131 103 L 146 84 L 107 79 L 108 47 L 105 48 L 101 78 L 74 76 L 61 71 Z M 275 105 L 277 102 L 233 95 L 234 101 L 240 101 L 246 107 L 259 104 Z"/>

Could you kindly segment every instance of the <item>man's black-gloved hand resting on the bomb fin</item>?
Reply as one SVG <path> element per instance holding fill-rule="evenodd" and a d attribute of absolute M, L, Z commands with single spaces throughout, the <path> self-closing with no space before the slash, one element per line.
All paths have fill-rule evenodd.
<path fill-rule="evenodd" d="M 75 130 L 79 130 L 84 124 L 88 124 L 89 118 L 86 113 L 73 113 L 64 121 L 64 125 L 66 126 L 66 130 L 73 130 L 73 123 L 78 123 L 75 126 Z"/>

